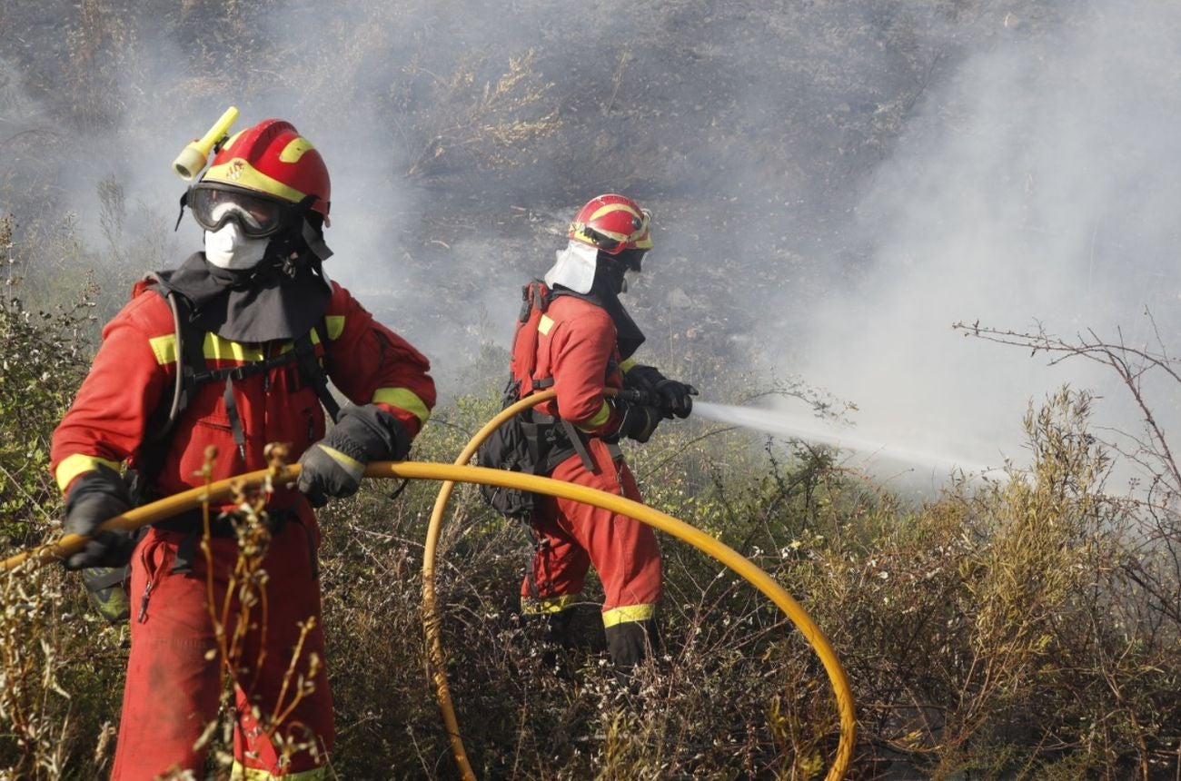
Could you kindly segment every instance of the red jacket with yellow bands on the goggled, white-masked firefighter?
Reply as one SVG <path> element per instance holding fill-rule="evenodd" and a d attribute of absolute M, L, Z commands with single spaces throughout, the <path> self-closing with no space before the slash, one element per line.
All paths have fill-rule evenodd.
<path fill-rule="evenodd" d="M 416 435 L 435 403 L 428 360 L 405 340 L 373 320 L 347 290 L 332 283 L 325 316 L 328 344 L 317 343 L 333 385 L 358 405 L 377 403 Z M 105 464 L 115 470 L 150 439 L 149 420 L 177 372 L 172 313 L 168 302 L 137 283 L 132 301 L 103 330 L 103 346 L 73 406 L 53 433 L 51 466 L 63 491 L 79 474 Z M 313 336 L 314 341 L 319 341 Z M 292 349 L 291 341 L 261 344 L 231 342 L 207 334 L 210 368 L 233 367 Z M 324 409 L 315 389 L 301 386 L 295 362 L 234 383 L 235 402 L 246 433 L 246 458 L 234 444 L 223 400 L 224 385 L 202 386 L 176 421 L 172 446 L 156 472 L 156 491 L 168 495 L 202 484 L 195 474 L 205 447 L 217 448 L 213 479 L 267 466 L 268 442 L 289 445 L 294 461 L 324 435 Z M 158 468 L 157 468 L 158 467 Z M 292 505 L 291 491 L 275 494 L 273 506 Z"/>

